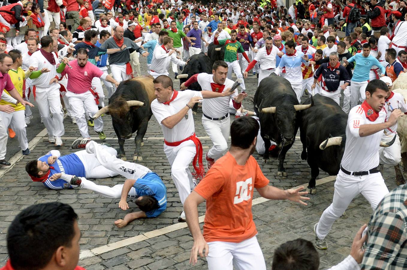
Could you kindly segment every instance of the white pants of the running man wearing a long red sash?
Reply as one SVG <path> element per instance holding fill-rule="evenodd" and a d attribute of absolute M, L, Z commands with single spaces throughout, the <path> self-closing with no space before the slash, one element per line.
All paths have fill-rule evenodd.
<path fill-rule="evenodd" d="M 194 188 L 189 165 L 196 153 L 195 143 L 192 140 L 187 140 L 178 146 L 164 144 L 164 153 L 171 165 L 171 178 L 177 187 L 179 199 L 184 204 L 186 197 Z"/>

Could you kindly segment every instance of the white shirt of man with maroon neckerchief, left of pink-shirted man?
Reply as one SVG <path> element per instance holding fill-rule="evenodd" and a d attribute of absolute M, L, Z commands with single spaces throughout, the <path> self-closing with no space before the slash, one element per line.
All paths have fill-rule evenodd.
<path fill-rule="evenodd" d="M 37 50 L 30 58 L 30 66 L 34 67 L 35 70 L 42 70 L 43 68 L 48 68 L 50 72 L 42 73 L 38 78 L 33 79 L 33 85 L 41 88 L 50 87 L 50 80 L 57 75 L 57 68 L 59 67 L 59 61 L 57 55 L 52 52 L 55 58 L 56 65 L 52 65 L 48 60 L 42 55 L 40 50 Z"/>

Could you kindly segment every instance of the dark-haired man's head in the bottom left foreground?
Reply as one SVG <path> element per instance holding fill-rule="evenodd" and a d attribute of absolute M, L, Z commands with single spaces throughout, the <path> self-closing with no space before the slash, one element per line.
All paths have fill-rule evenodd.
<path fill-rule="evenodd" d="M 79 239 L 78 215 L 70 205 L 34 204 L 11 222 L 7 232 L 10 258 L 1 270 L 85 270 L 77 266 Z"/>

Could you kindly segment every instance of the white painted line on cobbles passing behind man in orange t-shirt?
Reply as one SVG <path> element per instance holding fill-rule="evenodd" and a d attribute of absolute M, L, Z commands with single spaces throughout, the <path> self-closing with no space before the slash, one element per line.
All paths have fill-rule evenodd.
<path fill-rule="evenodd" d="M 328 176 L 328 177 L 318 179 L 315 182 L 315 186 L 319 186 L 321 184 L 331 182 L 331 181 L 333 181 L 335 179 L 336 179 L 336 176 Z M 291 189 L 299 188 L 299 187 L 302 187 L 302 186 L 303 185 L 298 185 L 297 187 L 292 187 Z M 267 202 L 267 201 L 269 201 L 269 199 L 259 197 L 259 198 L 256 198 L 256 199 L 254 199 L 252 201 L 252 205 L 261 204 L 261 203 Z M 205 215 L 201 215 L 199 217 L 199 219 L 198 219 L 199 223 L 204 222 L 204 219 L 205 219 Z M 125 246 L 129 246 L 130 244 L 135 244 L 135 243 L 138 243 L 138 242 L 141 242 L 141 241 L 144 241 L 144 240 L 147 240 L 147 239 L 151 239 L 153 237 L 157 237 L 157 236 L 160 236 L 160 235 L 164 235 L 164 234 L 167 234 L 167 233 L 171 233 L 171 232 L 173 232 L 175 230 L 179 230 L 179 229 L 186 228 L 186 227 L 188 227 L 188 225 L 186 223 L 176 223 L 176 224 L 166 226 L 164 228 L 160 228 L 160 229 L 157 229 L 157 230 L 152 230 L 152 231 L 150 231 L 148 233 L 143 233 L 142 235 L 129 237 L 129 238 L 114 242 L 112 244 L 107 244 L 105 246 L 100 246 L 100 247 L 97 247 L 97 248 L 82 250 L 81 253 L 79 254 L 79 260 L 90 258 L 90 257 L 97 256 L 97 255 L 101 255 L 102 253 L 105 253 L 105 252 L 109 252 L 109 251 L 112 251 L 112 250 L 115 250 L 115 249 L 118 249 L 118 248 L 123 248 Z"/>

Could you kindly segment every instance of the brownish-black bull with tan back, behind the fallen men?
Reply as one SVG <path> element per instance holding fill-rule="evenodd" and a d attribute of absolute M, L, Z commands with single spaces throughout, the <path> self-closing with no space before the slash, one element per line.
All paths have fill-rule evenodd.
<path fill-rule="evenodd" d="M 155 99 L 153 77 L 141 76 L 123 81 L 116 92 L 110 97 L 109 105 L 99 110 L 92 118 L 96 119 L 102 114 L 112 116 L 114 132 L 116 132 L 120 149 L 118 158 L 126 160 L 124 149 L 125 139 L 131 138 L 137 131 L 134 142 L 133 161 L 142 161 L 140 147 L 144 145 L 143 137 L 147 131 L 147 125 L 153 114 L 150 104 Z"/>

